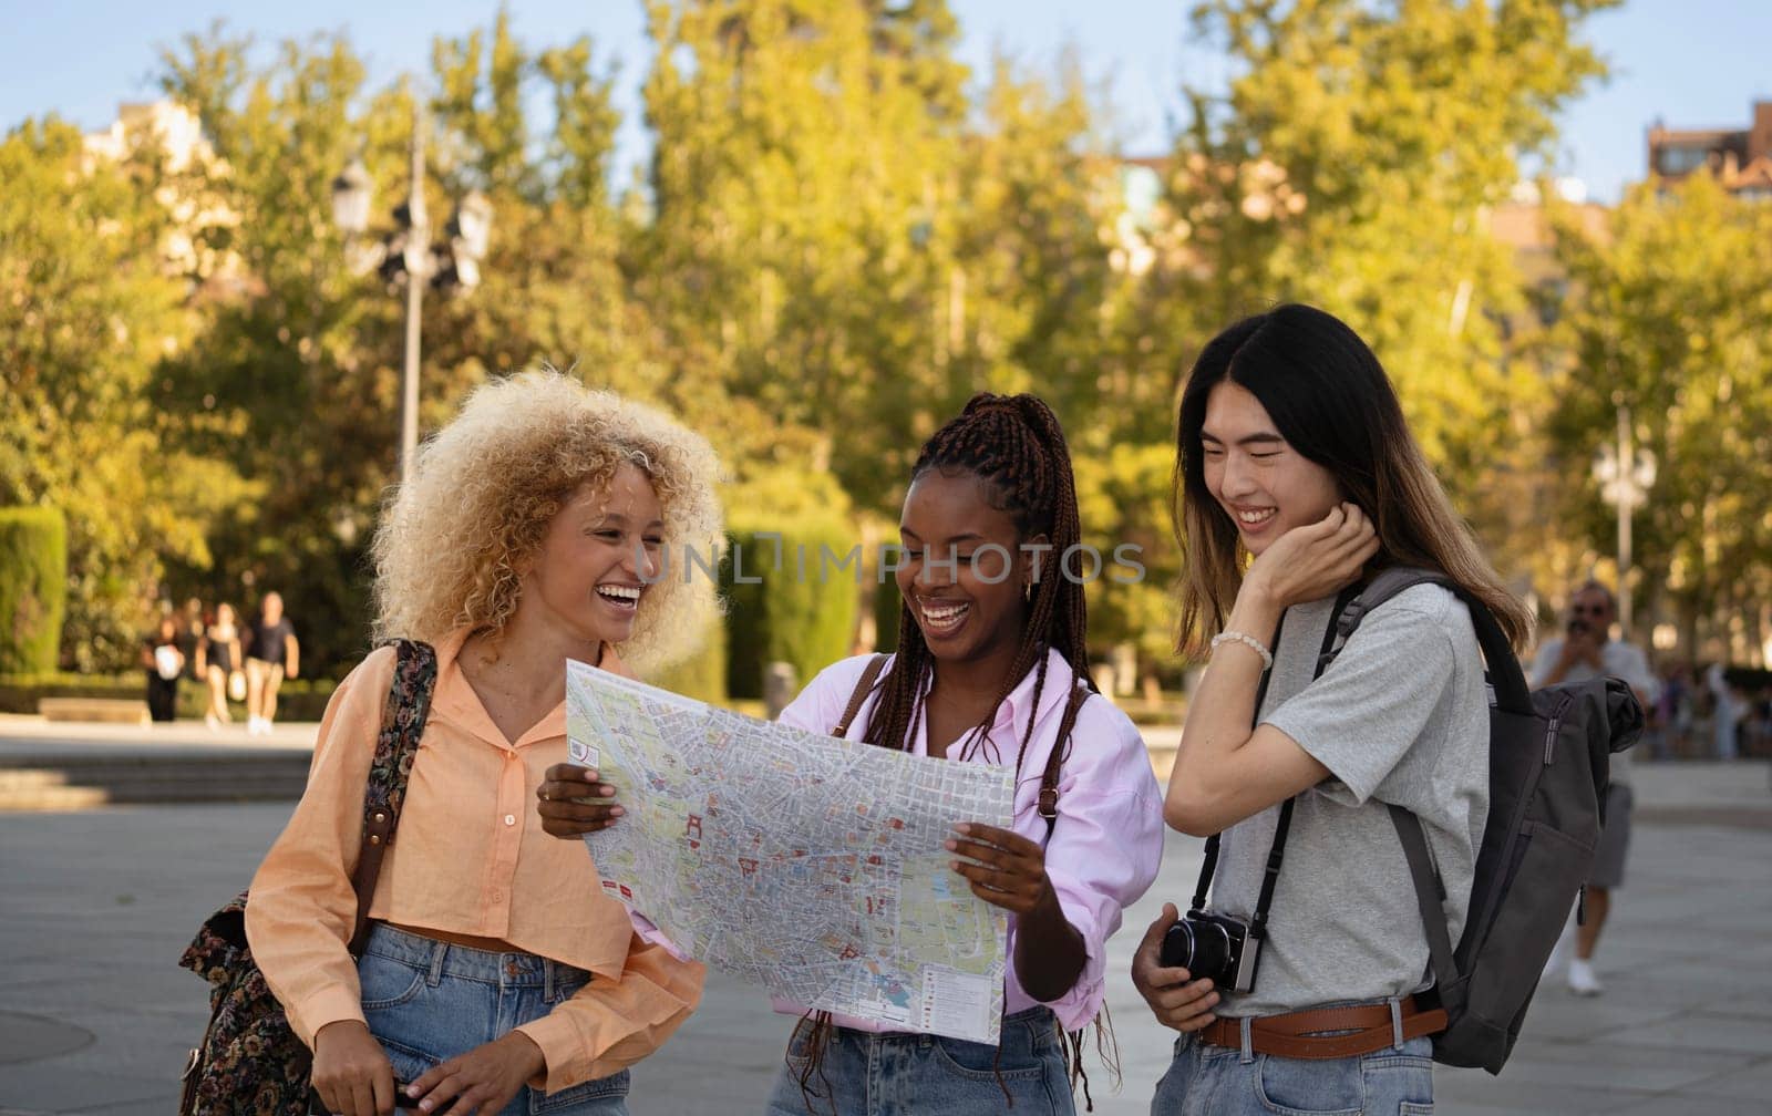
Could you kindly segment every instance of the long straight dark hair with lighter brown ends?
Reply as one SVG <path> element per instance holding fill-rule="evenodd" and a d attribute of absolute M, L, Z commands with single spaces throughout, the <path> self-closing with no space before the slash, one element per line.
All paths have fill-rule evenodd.
<path fill-rule="evenodd" d="M 1488 606 L 1515 647 L 1526 645 L 1531 613 L 1453 510 L 1379 358 L 1341 319 L 1292 303 L 1246 317 L 1207 342 L 1182 390 L 1171 510 L 1182 551 L 1177 645 L 1184 655 L 1203 657 L 1224 629 L 1247 558 L 1237 524 L 1207 491 L 1200 439 L 1207 397 L 1226 381 L 1255 395 L 1281 438 L 1329 469 L 1372 517 L 1379 533 L 1373 567 L 1446 574 Z"/>

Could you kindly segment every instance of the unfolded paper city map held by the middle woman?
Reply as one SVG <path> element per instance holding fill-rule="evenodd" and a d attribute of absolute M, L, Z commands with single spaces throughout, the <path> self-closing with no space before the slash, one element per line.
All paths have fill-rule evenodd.
<path fill-rule="evenodd" d="M 602 889 L 682 951 L 813 1010 L 998 1042 L 1006 916 L 943 849 L 1008 827 L 1014 772 L 757 721 L 567 664 L 572 762 L 626 815 Z"/>

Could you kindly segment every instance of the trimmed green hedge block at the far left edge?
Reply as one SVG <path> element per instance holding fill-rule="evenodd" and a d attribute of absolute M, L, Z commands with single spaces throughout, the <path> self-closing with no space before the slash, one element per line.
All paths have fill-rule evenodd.
<path fill-rule="evenodd" d="M 66 611 L 60 508 L 0 508 L 0 673 L 53 671 Z"/>

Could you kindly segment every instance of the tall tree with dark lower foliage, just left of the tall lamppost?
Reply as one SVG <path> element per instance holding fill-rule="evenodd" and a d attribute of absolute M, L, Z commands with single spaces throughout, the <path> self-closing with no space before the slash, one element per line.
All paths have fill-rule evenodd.
<path fill-rule="evenodd" d="M 250 51 L 216 25 L 161 57 L 161 87 L 214 145 L 188 190 L 211 200 L 206 243 L 229 275 L 161 406 L 206 413 L 193 448 L 255 485 L 211 537 L 216 567 L 181 581 L 246 616 L 255 601 L 239 597 L 282 592 L 324 673 L 367 636 L 363 549 L 397 453 L 400 354 L 397 299 L 347 267 L 331 181 L 361 151 L 386 197 L 411 115 L 399 92 L 367 97 L 342 34 L 285 41 L 260 69 Z"/>

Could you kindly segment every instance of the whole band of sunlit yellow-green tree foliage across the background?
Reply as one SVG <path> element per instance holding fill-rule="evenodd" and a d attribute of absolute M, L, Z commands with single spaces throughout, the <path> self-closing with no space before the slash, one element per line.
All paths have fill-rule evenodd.
<path fill-rule="evenodd" d="M 404 354 L 400 289 L 361 260 L 415 186 L 434 241 L 477 190 L 482 282 L 424 299 L 422 432 L 489 376 L 574 368 L 703 430 L 742 526 L 852 544 L 890 537 L 916 448 L 973 391 L 1037 391 L 1086 540 L 1145 569 L 1097 583 L 1092 634 L 1150 668 L 1180 379 L 1232 319 L 1311 301 L 1373 344 L 1508 572 L 1604 549 L 1605 508 L 1568 477 L 1618 391 L 1662 459 L 1637 551 L 1696 624 L 1768 588 L 1735 576 L 1767 565 L 1767 207 L 1694 184 L 1634 195 L 1602 239 L 1565 221 L 1550 329 L 1519 328 L 1545 306 L 1492 234 L 1600 73 L 1581 27 L 1609 5 L 1201 0 L 1193 34 L 1230 78 L 1189 87 L 1150 213 L 1081 67 L 971 73 L 944 0 L 649 0 L 633 181 L 590 39 L 525 43 L 500 12 L 374 85 L 342 34 L 259 53 L 214 25 L 161 67 L 211 158 L 94 161 L 55 120 L 0 143 L 0 503 L 67 510 L 83 666 L 128 655 L 156 597 L 250 609 L 268 588 L 321 671 L 353 659 Z M 331 182 L 358 156 L 374 223 L 346 243 Z M 712 693 L 721 657 L 691 673 Z"/>

